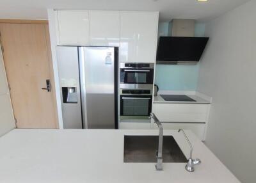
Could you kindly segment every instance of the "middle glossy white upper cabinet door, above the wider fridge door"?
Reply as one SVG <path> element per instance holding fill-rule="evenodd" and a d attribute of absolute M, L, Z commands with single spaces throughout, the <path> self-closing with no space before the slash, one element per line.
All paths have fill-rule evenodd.
<path fill-rule="evenodd" d="M 90 11 L 90 45 L 120 45 L 120 12 Z"/>

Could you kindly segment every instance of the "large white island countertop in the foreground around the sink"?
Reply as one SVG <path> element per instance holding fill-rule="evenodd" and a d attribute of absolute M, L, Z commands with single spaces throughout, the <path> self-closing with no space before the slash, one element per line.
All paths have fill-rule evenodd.
<path fill-rule="evenodd" d="M 124 163 L 124 135 L 157 135 L 155 130 L 45 130 L 14 129 L 0 138 L 0 182 L 239 182 L 196 136 L 186 131 L 193 144 L 193 157 L 202 164 L 195 172 L 185 163 Z M 173 135 L 188 157 L 182 133 Z"/>

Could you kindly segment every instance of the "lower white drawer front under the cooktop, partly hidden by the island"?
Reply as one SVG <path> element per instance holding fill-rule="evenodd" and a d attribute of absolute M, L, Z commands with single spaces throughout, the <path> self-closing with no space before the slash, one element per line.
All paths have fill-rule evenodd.
<path fill-rule="evenodd" d="M 205 124 L 201 123 L 162 123 L 164 129 L 172 129 L 172 130 L 179 130 L 179 129 L 186 129 L 191 130 L 196 136 L 201 139 L 204 139 L 204 132 L 205 132 Z M 154 129 L 158 129 L 156 123 L 154 123 Z"/>

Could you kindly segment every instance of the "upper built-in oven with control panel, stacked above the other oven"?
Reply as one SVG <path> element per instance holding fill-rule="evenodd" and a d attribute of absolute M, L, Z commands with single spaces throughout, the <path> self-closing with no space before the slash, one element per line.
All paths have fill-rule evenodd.
<path fill-rule="evenodd" d="M 154 63 L 120 63 L 120 84 L 153 84 Z"/>

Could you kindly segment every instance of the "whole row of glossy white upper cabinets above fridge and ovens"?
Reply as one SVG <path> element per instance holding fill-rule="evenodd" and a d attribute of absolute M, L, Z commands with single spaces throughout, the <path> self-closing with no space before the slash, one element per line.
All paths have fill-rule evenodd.
<path fill-rule="evenodd" d="M 58 45 L 120 47 L 120 62 L 155 63 L 158 12 L 56 11 Z"/>

